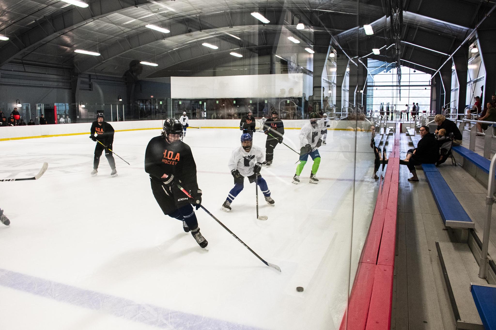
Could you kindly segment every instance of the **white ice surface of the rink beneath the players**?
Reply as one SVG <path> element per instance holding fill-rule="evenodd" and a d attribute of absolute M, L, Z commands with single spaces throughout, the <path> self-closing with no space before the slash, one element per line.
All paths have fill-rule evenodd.
<path fill-rule="evenodd" d="M 298 132 L 284 136 L 295 149 Z M 219 210 L 233 187 L 227 161 L 240 131 L 188 129 L 203 205 L 282 273 L 202 210 L 208 252 L 162 214 L 143 169 L 159 133 L 117 132 L 114 151 L 131 165 L 115 157 L 114 178 L 104 155 L 98 176 L 89 175 L 86 135 L 0 142 L 1 178 L 33 176 L 49 163 L 39 180 L 0 182 L 11 220 L 0 227 L 0 329 L 339 328 L 377 193 L 370 133 L 329 131 L 317 185 L 308 182 L 311 161 L 291 183 L 298 156 L 278 145 L 262 169 L 275 207 L 259 192 L 268 216 L 260 221 L 248 180 L 232 212 Z M 255 133 L 254 144 L 265 149 L 265 135 Z"/>

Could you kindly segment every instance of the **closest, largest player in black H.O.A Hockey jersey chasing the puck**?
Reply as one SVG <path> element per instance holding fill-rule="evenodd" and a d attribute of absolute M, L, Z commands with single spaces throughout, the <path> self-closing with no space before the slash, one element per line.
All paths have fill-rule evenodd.
<path fill-rule="evenodd" d="M 166 216 L 183 221 L 201 248 L 207 240 L 201 235 L 191 204 L 199 208 L 201 190 L 196 181 L 196 164 L 189 146 L 183 142 L 183 125 L 167 118 L 162 135 L 150 140 L 145 152 L 145 171 L 150 174 L 153 196 Z M 181 191 L 180 184 L 191 198 Z"/>

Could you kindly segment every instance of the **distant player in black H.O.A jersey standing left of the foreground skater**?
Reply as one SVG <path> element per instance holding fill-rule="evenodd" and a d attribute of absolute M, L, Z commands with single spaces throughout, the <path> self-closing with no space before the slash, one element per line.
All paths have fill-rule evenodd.
<path fill-rule="evenodd" d="M 91 124 L 90 139 L 96 142 L 95 146 L 95 158 L 93 159 L 93 171 L 91 171 L 91 176 L 96 176 L 98 174 L 98 164 L 100 164 L 100 156 L 105 150 L 105 157 L 109 161 L 110 168 L 112 172 L 110 175 L 117 176 L 116 161 L 114 156 L 112 156 L 112 144 L 114 143 L 114 127 L 105 121 L 103 112 L 98 112 L 97 120 L 93 121 Z M 97 134 L 95 136 L 95 133 Z M 101 143 L 98 143 L 100 141 Z M 105 145 L 102 146 L 102 143 Z"/>

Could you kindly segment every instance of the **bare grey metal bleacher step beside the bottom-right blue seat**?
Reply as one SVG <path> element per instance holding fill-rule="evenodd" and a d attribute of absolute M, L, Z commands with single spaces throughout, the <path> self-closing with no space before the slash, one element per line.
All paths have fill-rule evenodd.
<path fill-rule="evenodd" d="M 479 266 L 468 244 L 436 242 L 436 248 L 456 320 L 456 329 L 484 330 L 470 293 L 470 283 L 487 282 L 479 278 Z"/>

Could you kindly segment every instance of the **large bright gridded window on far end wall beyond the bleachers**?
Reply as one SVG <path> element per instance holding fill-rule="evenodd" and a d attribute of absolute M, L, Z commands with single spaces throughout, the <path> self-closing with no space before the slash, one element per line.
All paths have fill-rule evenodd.
<path fill-rule="evenodd" d="M 391 63 L 370 59 L 369 71 L 372 76 L 367 81 L 367 110 L 378 112 L 381 104 L 395 105 L 397 110 L 404 110 L 405 105 L 415 102 L 420 111 L 431 107 L 431 75 L 420 70 L 401 66 L 401 84 L 398 85 L 396 67 Z"/>

